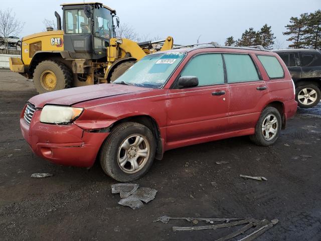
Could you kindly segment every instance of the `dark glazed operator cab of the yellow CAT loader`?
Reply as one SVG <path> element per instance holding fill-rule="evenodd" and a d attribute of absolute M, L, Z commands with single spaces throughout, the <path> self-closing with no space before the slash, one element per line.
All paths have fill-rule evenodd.
<path fill-rule="evenodd" d="M 62 9 L 64 50 L 70 57 L 105 58 L 116 12 L 101 3 L 63 4 Z"/>

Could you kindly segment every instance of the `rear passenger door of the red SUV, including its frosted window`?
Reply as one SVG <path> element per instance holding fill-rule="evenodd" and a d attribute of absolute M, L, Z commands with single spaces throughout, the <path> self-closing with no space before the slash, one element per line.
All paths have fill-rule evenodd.
<path fill-rule="evenodd" d="M 230 89 L 230 131 L 253 128 L 269 99 L 266 82 L 261 79 L 249 54 L 223 54 Z"/>

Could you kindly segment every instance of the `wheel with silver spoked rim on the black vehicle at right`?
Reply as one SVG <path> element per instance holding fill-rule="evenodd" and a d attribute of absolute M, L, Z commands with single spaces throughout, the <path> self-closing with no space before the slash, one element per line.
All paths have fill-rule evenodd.
<path fill-rule="evenodd" d="M 300 85 L 295 89 L 295 100 L 301 108 L 311 108 L 318 104 L 321 91 L 314 84 Z"/>

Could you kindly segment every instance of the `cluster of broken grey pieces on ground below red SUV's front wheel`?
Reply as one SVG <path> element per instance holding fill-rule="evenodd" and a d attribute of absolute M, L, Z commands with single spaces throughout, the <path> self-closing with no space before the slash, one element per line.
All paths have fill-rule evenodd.
<path fill-rule="evenodd" d="M 139 184 L 119 183 L 111 185 L 113 194 L 119 193 L 122 198 L 118 204 L 131 207 L 132 209 L 141 208 L 145 202 L 150 202 L 155 198 L 157 190 L 149 187 L 139 188 Z"/>

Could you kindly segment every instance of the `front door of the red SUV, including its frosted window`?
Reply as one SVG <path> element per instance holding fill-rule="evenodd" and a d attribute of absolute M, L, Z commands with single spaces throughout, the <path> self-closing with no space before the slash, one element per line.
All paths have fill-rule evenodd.
<path fill-rule="evenodd" d="M 228 122 L 229 90 L 222 55 L 196 55 L 180 76 L 197 76 L 199 85 L 169 90 L 167 142 L 224 132 Z"/>

